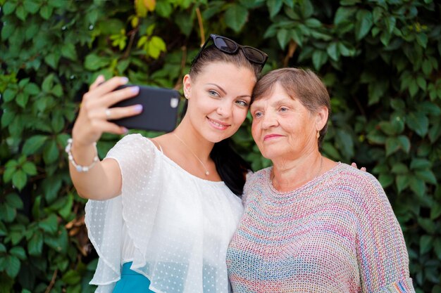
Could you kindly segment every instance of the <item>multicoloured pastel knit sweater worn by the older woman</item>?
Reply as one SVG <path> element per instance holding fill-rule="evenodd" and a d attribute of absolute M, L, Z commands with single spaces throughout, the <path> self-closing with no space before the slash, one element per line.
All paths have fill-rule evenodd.
<path fill-rule="evenodd" d="M 233 292 L 414 292 L 402 230 L 380 183 L 339 163 L 280 193 L 251 174 L 227 253 Z"/>

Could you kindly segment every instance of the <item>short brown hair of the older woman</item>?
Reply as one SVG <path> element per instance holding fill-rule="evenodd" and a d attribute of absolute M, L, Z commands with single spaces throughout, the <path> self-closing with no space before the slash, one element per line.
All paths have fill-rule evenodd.
<path fill-rule="evenodd" d="M 290 67 L 268 72 L 268 74 L 259 79 L 254 87 L 251 103 L 271 94 L 275 84 L 280 84 L 290 98 L 298 99 L 309 112 L 316 112 L 318 108 L 325 106 L 330 114 L 328 90 L 320 77 L 309 69 L 303 70 Z M 319 148 L 328 129 L 328 121 L 326 121 L 325 126 L 320 131 L 320 138 L 318 138 Z"/>

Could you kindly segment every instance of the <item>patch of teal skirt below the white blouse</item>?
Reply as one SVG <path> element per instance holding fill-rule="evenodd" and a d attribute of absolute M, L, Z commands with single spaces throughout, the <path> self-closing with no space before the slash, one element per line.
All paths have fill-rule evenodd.
<path fill-rule="evenodd" d="M 154 293 L 149 289 L 150 280 L 130 270 L 132 263 L 124 263 L 121 278 L 116 282 L 113 293 Z"/>

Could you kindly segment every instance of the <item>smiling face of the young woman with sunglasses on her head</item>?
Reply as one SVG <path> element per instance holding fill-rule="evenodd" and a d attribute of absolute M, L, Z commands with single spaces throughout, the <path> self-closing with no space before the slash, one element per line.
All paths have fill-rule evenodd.
<path fill-rule="evenodd" d="M 206 140 L 216 143 L 235 134 L 247 117 L 254 72 L 232 63 L 211 63 L 196 78 L 184 78 L 185 118 Z M 185 119 L 184 118 L 184 119 Z"/>

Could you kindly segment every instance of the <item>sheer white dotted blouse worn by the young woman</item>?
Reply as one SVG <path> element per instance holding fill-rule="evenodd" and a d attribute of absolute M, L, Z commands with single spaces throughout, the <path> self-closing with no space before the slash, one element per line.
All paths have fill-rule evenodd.
<path fill-rule="evenodd" d="M 108 158 L 120 166 L 122 193 L 85 207 L 99 254 L 90 282 L 96 292 L 112 292 L 125 261 L 154 292 L 228 292 L 225 256 L 242 216 L 240 198 L 223 182 L 188 173 L 139 134 L 121 139 Z"/>

